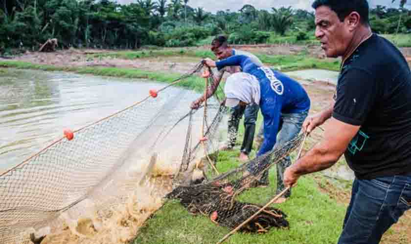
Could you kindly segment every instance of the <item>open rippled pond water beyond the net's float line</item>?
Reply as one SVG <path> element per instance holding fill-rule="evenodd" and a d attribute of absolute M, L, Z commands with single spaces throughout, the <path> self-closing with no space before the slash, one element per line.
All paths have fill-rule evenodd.
<path fill-rule="evenodd" d="M 164 86 L 135 81 L 0 69 L 0 171 L 63 136 L 65 128 L 79 129 Z M 193 100 L 196 97 L 192 92 Z"/>

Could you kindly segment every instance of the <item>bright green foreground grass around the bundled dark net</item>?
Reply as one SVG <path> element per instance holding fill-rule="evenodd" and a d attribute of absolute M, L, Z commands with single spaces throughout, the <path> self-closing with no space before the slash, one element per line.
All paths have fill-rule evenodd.
<path fill-rule="evenodd" d="M 224 156 L 223 156 L 224 157 Z M 223 160 L 219 164 L 228 163 Z M 231 162 L 231 166 L 237 163 Z M 230 163 L 228 163 L 230 164 Z M 275 170 L 270 174 L 273 183 Z M 267 203 L 274 187 L 255 188 L 239 198 L 248 203 Z M 275 205 L 288 215 L 290 229 L 272 228 L 266 234 L 236 233 L 228 244 L 283 243 L 328 244 L 336 243 L 341 233 L 345 207 L 320 193 L 311 177 L 302 177 L 293 189 L 292 198 Z M 176 202 L 166 203 L 153 218 L 140 229 L 134 244 L 210 244 L 216 243 L 230 229 L 213 224 L 205 216 L 193 216 Z"/>

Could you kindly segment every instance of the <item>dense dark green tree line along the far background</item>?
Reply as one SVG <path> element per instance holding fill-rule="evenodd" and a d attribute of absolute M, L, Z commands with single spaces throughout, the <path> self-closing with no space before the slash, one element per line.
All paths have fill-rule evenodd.
<path fill-rule="evenodd" d="M 401 3 L 406 1 L 401 0 Z M 371 9 L 377 33 L 409 33 L 411 11 L 378 5 Z M 262 43 L 273 32 L 284 36 L 313 31 L 314 13 L 291 7 L 258 10 L 244 5 L 239 11 L 215 14 L 189 6 L 189 0 L 136 0 L 122 5 L 111 0 L 2 0 L 0 51 L 37 50 L 57 38 L 60 48 L 139 48 L 142 45 L 192 46 L 219 33 L 230 42 Z"/>

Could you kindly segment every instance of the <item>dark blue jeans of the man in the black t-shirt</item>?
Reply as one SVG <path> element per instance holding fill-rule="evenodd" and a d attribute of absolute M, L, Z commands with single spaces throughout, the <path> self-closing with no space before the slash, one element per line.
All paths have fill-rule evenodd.
<path fill-rule="evenodd" d="M 378 244 L 411 208 L 411 174 L 355 179 L 338 244 Z"/>

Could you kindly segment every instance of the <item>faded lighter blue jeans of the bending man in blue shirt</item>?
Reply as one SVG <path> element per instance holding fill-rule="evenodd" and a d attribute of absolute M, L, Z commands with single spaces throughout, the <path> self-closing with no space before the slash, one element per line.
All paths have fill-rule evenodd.
<path fill-rule="evenodd" d="M 304 111 L 296 114 L 281 114 L 281 122 L 279 126 L 279 131 L 277 134 L 277 142 L 274 145 L 274 148 L 281 147 L 285 143 L 293 140 L 301 130 L 302 123 L 305 118 L 307 118 L 308 111 Z M 263 126 L 260 128 L 260 132 L 263 129 Z M 283 178 L 285 169 L 291 165 L 290 156 L 285 157 L 280 162 L 276 164 L 277 166 L 277 194 L 282 192 L 285 189 Z M 266 165 L 261 165 L 265 167 Z M 264 172 L 261 177 L 261 182 L 263 184 L 268 184 L 268 170 Z M 290 197 L 291 190 L 287 191 L 284 197 Z"/>

